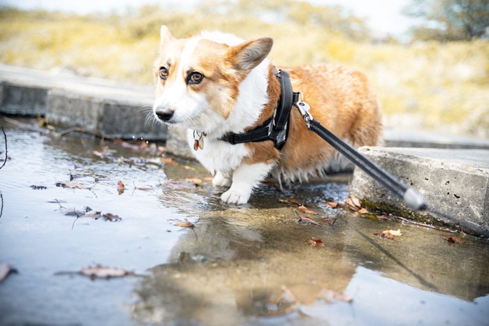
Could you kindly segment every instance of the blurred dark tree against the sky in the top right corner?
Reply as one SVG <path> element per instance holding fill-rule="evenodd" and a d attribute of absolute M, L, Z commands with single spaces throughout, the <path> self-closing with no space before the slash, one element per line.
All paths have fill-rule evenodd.
<path fill-rule="evenodd" d="M 489 0 L 411 0 L 404 14 L 421 21 L 412 29 L 418 40 L 472 40 L 489 34 Z"/>

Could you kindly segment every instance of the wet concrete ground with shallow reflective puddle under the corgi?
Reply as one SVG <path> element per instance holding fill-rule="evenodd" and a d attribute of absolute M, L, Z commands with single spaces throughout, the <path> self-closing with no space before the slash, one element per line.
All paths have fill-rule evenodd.
<path fill-rule="evenodd" d="M 0 264 L 19 273 L 0 282 L 0 325 L 487 323 L 488 242 L 450 244 L 447 232 L 328 207 L 348 196 L 347 177 L 263 184 L 238 207 L 220 202 L 223 189 L 198 163 L 126 143 L 104 151 L 101 140 L 29 120 L 1 124 L 10 160 L 0 170 Z M 82 188 L 56 186 L 71 177 Z M 298 222 L 305 214 L 280 201 L 290 198 L 319 225 Z M 84 207 L 122 221 L 65 215 Z M 194 228 L 175 225 L 184 218 Z M 388 229 L 402 236 L 373 234 Z M 59 274 L 98 264 L 136 276 Z"/>

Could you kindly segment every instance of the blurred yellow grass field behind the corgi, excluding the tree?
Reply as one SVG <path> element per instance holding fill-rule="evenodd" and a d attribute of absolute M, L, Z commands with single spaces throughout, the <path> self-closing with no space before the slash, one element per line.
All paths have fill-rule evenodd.
<path fill-rule="evenodd" d="M 251 15 L 165 12 L 66 15 L 0 10 L 0 61 L 125 82 L 152 82 L 159 27 L 176 37 L 219 29 L 242 38 L 272 36 L 277 66 L 333 62 L 366 73 L 388 126 L 428 128 L 489 138 L 489 42 L 403 45 L 351 40 L 313 24 L 273 24 Z"/>

